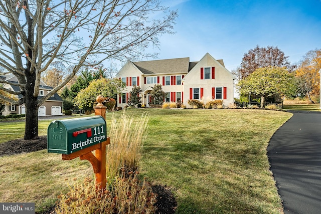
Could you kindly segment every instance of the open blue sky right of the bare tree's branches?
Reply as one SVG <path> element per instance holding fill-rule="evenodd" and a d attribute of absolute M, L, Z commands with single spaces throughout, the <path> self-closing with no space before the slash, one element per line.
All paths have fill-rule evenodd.
<path fill-rule="evenodd" d="M 223 59 L 230 71 L 250 49 L 274 46 L 297 63 L 321 48 L 321 0 L 163 0 L 178 10 L 174 35 L 163 35 L 158 59 L 190 57 L 199 61 L 206 53 Z"/>

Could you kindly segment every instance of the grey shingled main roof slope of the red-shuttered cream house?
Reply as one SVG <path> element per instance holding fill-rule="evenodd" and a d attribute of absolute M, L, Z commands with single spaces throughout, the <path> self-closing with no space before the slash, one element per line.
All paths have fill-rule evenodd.
<path fill-rule="evenodd" d="M 190 58 L 133 62 L 143 74 L 188 73 Z"/>

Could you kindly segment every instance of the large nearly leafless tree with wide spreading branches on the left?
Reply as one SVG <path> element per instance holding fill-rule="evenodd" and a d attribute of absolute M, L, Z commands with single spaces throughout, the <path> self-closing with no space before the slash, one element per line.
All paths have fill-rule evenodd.
<path fill-rule="evenodd" d="M 160 14 L 164 17 L 156 19 Z M 0 89 L 22 95 L 18 101 L 3 95 L 0 99 L 25 104 L 25 139 L 36 139 L 39 106 L 82 66 L 96 66 L 108 59 L 127 61 L 153 56 L 145 54 L 145 48 L 158 47 L 159 35 L 173 33 L 176 17 L 177 12 L 162 7 L 158 0 L 0 1 L 0 66 L 17 77 L 14 84 L 20 90 Z M 38 100 L 41 74 L 56 60 L 72 69 Z"/>

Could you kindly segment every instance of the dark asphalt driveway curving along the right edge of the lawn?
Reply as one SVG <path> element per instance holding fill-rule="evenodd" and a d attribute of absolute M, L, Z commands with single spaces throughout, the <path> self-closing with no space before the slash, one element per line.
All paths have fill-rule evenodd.
<path fill-rule="evenodd" d="M 284 213 L 321 213 L 321 112 L 292 111 L 267 153 Z"/>

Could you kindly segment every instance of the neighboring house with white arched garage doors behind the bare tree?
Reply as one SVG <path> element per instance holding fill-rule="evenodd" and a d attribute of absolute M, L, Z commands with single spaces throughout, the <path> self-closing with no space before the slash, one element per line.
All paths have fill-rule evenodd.
<path fill-rule="evenodd" d="M 18 80 L 15 76 L 7 78 L 8 82 L 16 82 L 18 83 Z M 44 82 L 40 81 L 40 87 L 39 87 L 39 95 L 38 99 L 40 99 L 42 96 L 48 94 L 53 88 L 50 86 L 47 86 Z M 7 88 L 9 90 L 13 91 L 20 91 L 20 88 L 18 86 L 13 86 L 9 84 L 4 84 L 4 88 Z M 18 99 L 22 98 L 22 95 L 16 95 L 18 96 Z M 52 97 L 50 97 L 46 102 L 44 102 L 38 109 L 38 116 L 48 116 L 48 115 L 62 115 L 62 99 L 60 96 L 55 93 Z M 6 105 L 5 110 L 2 112 L 3 115 L 9 115 L 9 114 L 26 114 L 26 108 L 25 104 L 22 104 L 20 106 L 16 105 Z"/>

